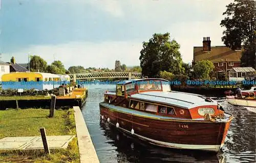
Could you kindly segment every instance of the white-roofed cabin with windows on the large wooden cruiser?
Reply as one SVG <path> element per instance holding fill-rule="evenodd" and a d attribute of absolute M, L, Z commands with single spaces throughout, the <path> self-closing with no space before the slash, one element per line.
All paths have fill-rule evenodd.
<path fill-rule="evenodd" d="M 128 80 L 106 91 L 104 102 L 140 112 L 182 119 L 204 119 L 206 114 L 220 116 L 223 111 L 216 101 L 204 96 L 171 91 L 163 79 Z"/>

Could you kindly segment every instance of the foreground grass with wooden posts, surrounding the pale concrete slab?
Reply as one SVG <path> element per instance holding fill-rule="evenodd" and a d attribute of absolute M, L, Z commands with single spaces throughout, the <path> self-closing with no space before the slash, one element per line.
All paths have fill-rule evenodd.
<path fill-rule="evenodd" d="M 0 138 L 6 136 L 40 136 L 40 127 L 47 135 L 75 135 L 73 109 L 55 110 L 54 118 L 48 118 L 47 109 L 22 109 L 0 111 Z M 67 149 L 0 151 L 0 162 L 79 162 L 77 138 Z"/>

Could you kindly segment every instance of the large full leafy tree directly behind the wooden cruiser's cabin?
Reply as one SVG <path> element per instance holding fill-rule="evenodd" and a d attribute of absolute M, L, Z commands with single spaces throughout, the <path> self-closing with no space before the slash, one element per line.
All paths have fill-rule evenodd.
<path fill-rule="evenodd" d="M 160 71 L 173 74 L 184 72 L 182 59 L 179 52 L 180 45 L 175 40 L 170 40 L 170 34 L 154 34 L 148 42 L 143 42 L 140 51 L 140 66 L 142 75 L 159 77 Z"/>

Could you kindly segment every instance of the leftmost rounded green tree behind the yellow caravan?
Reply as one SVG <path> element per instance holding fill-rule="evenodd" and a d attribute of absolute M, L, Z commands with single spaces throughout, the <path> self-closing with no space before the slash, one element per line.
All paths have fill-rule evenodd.
<path fill-rule="evenodd" d="M 39 72 L 46 72 L 47 62 L 41 57 L 34 55 L 31 56 L 29 66 L 31 72 L 37 72 L 38 70 Z"/>

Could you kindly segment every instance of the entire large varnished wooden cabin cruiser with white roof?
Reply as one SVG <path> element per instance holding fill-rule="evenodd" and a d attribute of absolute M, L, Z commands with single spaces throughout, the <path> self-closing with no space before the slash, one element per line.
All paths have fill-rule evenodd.
<path fill-rule="evenodd" d="M 172 91 L 164 79 L 120 82 L 99 103 L 100 118 L 151 144 L 218 152 L 233 116 L 217 101 Z"/>

